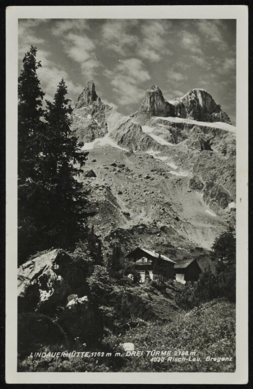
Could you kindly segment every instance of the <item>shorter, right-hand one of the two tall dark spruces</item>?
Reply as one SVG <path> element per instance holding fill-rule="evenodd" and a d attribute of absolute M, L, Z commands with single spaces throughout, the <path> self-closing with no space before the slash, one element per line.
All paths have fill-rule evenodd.
<path fill-rule="evenodd" d="M 48 190 L 48 239 L 52 244 L 69 247 L 87 232 L 87 193 L 76 180 L 88 153 L 81 152 L 82 143 L 71 135 L 72 108 L 66 98 L 62 79 L 53 102 L 46 101 L 47 142 L 43 150 L 43 176 Z"/>

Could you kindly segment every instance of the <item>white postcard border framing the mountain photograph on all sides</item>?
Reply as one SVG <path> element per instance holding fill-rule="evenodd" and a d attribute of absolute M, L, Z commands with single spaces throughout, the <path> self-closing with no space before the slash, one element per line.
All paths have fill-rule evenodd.
<path fill-rule="evenodd" d="M 17 85 L 19 18 L 236 19 L 236 371 L 234 373 L 17 372 Z M 6 382 L 243 384 L 248 377 L 248 9 L 247 6 L 11 6 L 7 27 Z"/>

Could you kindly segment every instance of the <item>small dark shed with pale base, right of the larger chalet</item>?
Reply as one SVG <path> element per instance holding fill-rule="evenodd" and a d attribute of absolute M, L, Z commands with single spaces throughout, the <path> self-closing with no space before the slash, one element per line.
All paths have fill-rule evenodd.
<path fill-rule="evenodd" d="M 183 259 L 177 261 L 174 266 L 176 281 L 182 282 L 185 284 L 187 281 L 197 281 L 199 279 L 199 274 L 201 269 L 196 261 L 196 259 Z"/>

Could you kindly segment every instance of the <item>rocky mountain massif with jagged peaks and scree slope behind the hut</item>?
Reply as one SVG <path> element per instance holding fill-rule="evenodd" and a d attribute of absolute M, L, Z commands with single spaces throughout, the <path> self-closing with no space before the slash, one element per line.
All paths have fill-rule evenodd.
<path fill-rule="evenodd" d="M 234 223 L 229 123 L 203 89 L 165 100 L 152 86 L 139 110 L 125 116 L 102 102 L 90 81 L 73 110 L 72 131 L 89 151 L 85 169 L 94 172 L 85 171 L 83 182 L 91 190 L 95 231 L 108 244 L 123 234 L 128 249 L 162 249 L 167 241 L 186 250 L 210 247 Z"/>

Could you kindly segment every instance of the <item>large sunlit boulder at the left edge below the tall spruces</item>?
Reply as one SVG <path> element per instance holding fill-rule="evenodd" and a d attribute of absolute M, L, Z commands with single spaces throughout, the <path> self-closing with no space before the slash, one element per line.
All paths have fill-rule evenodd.
<path fill-rule="evenodd" d="M 18 281 L 19 310 L 51 314 L 81 290 L 85 274 L 63 250 L 53 250 L 21 265 Z"/>

